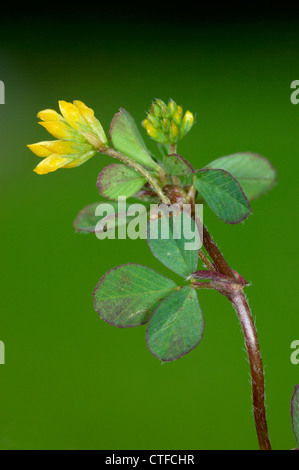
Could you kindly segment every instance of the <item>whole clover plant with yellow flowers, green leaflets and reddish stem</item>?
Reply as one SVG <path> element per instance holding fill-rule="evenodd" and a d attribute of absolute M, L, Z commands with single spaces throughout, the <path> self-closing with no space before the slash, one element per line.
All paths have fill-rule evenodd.
<path fill-rule="evenodd" d="M 151 267 L 135 263 L 112 267 L 94 289 L 95 310 L 104 321 L 120 328 L 147 324 L 147 347 L 155 357 L 166 362 L 186 355 L 202 338 L 204 318 L 198 291 L 214 289 L 226 297 L 238 315 L 245 338 L 259 447 L 270 450 L 264 370 L 256 328 L 244 294 L 248 283 L 229 266 L 202 220 L 197 220 L 195 209 L 203 204 L 223 222 L 238 224 L 251 213 L 250 201 L 274 186 L 275 169 L 265 157 L 250 152 L 222 156 L 204 168 L 194 169 L 178 154 L 177 146 L 193 127 L 195 117 L 190 111 L 184 113 L 173 100 L 167 104 L 154 100 L 142 122 L 148 136 L 157 143 L 155 155 L 147 148 L 141 131 L 125 109 L 120 108 L 112 119 L 109 144 L 93 110 L 83 102 L 60 101 L 59 107 L 61 114 L 51 109 L 38 114 L 40 124 L 56 140 L 28 146 L 42 157 L 34 169 L 36 173 L 77 167 L 99 154 L 118 161 L 99 173 L 97 187 L 102 199 L 79 212 L 74 222 L 76 230 L 104 238 L 116 225 L 123 230 L 125 224 L 130 224 L 134 209 L 131 213 L 127 210 L 132 205 L 140 208 L 142 204 L 148 214 L 145 234 L 153 256 L 169 269 L 169 275 L 173 271 L 182 279 L 181 285 L 177 285 Z M 121 210 L 119 199 L 123 201 Z M 118 212 L 116 220 L 103 217 L 101 207 L 105 200 Z M 164 219 L 163 210 L 152 214 L 150 206 L 159 204 L 164 208 L 175 206 L 177 212 Z M 184 233 L 175 236 L 183 223 L 184 206 L 189 208 L 190 227 L 200 233 L 200 248 L 186 249 L 188 237 Z M 159 228 L 162 219 L 168 224 L 168 237 L 162 236 Z M 199 269 L 199 262 L 205 269 Z M 291 417 L 299 447 L 299 385 L 292 397 Z"/>

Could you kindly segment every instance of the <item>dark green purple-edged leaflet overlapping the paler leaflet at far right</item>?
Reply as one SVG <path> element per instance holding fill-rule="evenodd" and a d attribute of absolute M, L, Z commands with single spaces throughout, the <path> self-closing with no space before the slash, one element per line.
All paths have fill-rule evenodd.
<path fill-rule="evenodd" d="M 238 181 L 221 169 L 196 170 L 194 185 L 212 211 L 224 222 L 236 224 L 251 212 Z"/>

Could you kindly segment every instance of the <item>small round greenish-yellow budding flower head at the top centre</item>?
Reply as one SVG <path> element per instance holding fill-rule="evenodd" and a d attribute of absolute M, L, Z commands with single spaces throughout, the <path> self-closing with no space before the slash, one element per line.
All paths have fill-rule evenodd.
<path fill-rule="evenodd" d="M 194 124 L 194 116 L 190 111 L 183 115 L 183 108 L 173 100 L 165 104 L 162 100 L 155 100 L 142 122 L 148 135 L 163 144 L 176 144 Z"/>

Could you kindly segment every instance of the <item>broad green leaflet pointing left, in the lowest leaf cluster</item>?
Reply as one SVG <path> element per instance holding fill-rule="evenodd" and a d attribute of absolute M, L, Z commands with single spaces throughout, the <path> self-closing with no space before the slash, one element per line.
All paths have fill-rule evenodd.
<path fill-rule="evenodd" d="M 95 310 L 107 323 L 120 328 L 143 325 L 152 315 L 154 304 L 175 287 L 173 281 L 146 266 L 117 266 L 96 286 Z"/>

